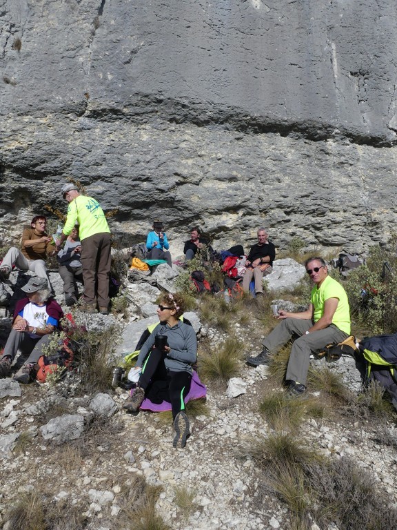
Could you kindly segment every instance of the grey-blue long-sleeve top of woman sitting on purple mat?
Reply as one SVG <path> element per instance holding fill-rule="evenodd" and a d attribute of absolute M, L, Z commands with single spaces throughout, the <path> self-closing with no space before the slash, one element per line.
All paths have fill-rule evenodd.
<path fill-rule="evenodd" d="M 165 322 L 157 324 L 143 344 L 136 366 L 143 366 L 147 353 L 154 346 L 156 335 L 167 335 L 168 337 L 167 342 L 170 351 L 165 355 L 165 367 L 174 372 L 192 373 L 192 364 L 197 360 L 197 337 L 193 327 L 181 321 L 172 328 Z"/>

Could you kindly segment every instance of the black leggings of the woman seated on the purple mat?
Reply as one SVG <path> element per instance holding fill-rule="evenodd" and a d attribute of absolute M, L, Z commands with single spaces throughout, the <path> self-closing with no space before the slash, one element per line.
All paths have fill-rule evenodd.
<path fill-rule="evenodd" d="M 192 374 L 189 372 L 173 372 L 164 364 L 164 354 L 153 348 L 147 354 L 142 366 L 139 386 L 145 396 L 154 403 L 168 401 L 172 406 L 172 418 L 185 410 L 185 397 L 190 391 Z"/>

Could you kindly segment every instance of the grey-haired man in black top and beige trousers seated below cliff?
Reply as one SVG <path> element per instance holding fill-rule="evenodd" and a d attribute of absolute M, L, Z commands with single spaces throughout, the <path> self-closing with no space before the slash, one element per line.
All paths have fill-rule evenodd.
<path fill-rule="evenodd" d="M 273 261 L 276 257 L 276 248 L 274 244 L 267 241 L 265 228 L 258 228 L 258 243 L 251 247 L 245 266 L 247 271 L 243 276 L 243 291 L 250 292 L 250 282 L 252 277 L 255 280 L 256 295 L 263 295 L 263 276 L 272 272 Z"/>

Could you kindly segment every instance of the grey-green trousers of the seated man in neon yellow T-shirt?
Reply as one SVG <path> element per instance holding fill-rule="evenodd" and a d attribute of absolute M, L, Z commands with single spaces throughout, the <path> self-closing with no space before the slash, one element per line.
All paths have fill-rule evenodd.
<path fill-rule="evenodd" d="M 342 342 L 349 335 L 331 324 L 325 329 L 320 329 L 305 335 L 305 332 L 313 326 L 312 320 L 302 320 L 300 318 L 285 318 L 274 330 L 263 339 L 262 344 L 270 352 L 276 352 L 281 346 L 286 344 L 292 335 L 299 335 L 299 338 L 292 344 L 291 353 L 287 366 L 285 380 L 292 380 L 306 384 L 307 371 L 309 370 L 309 360 L 312 351 L 319 350 L 332 344 L 332 342 Z"/>

